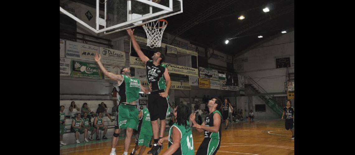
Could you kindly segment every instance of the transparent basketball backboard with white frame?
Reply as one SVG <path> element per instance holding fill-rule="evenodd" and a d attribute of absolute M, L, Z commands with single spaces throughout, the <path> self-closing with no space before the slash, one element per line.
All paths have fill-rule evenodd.
<path fill-rule="evenodd" d="M 95 17 L 95 24 L 92 24 L 93 21 L 90 24 L 78 17 L 70 7 L 65 7 L 62 1 L 60 12 L 95 33 L 110 34 L 182 13 L 182 0 L 96 0 L 95 14 L 89 12 Z M 100 3 L 104 5 L 104 10 L 100 10 Z"/>

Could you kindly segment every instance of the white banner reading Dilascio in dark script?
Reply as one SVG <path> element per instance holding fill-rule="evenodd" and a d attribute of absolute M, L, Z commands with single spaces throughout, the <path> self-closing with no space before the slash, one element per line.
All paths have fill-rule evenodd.
<path fill-rule="evenodd" d="M 125 66 L 126 53 L 120 50 L 100 47 L 101 62 L 103 64 L 113 64 Z"/>

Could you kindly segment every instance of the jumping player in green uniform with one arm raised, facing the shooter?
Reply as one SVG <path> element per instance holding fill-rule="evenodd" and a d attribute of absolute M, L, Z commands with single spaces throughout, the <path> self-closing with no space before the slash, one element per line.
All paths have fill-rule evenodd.
<path fill-rule="evenodd" d="M 131 76 L 131 70 L 129 67 L 122 67 L 120 75 L 114 74 L 106 70 L 100 59 L 101 57 L 97 53 L 95 55 L 95 61 L 105 76 L 117 81 L 119 88 L 118 94 L 120 95 L 120 105 L 118 107 L 118 115 L 116 115 L 117 119 L 115 122 L 115 131 L 112 137 L 112 148 L 110 155 L 116 155 L 116 145 L 118 143 L 118 136 L 121 129 L 126 129 L 125 148 L 123 154 L 127 155 L 133 129 L 137 130 L 138 125 L 138 110 L 135 107 L 136 100 L 139 99 L 140 90 L 144 93 L 149 93 L 149 90 L 141 85 L 139 79 Z"/>

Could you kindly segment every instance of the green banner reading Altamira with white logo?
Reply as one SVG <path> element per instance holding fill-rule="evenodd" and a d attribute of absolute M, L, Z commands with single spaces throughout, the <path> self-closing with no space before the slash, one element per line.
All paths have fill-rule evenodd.
<path fill-rule="evenodd" d="M 97 64 L 72 60 L 72 77 L 102 79 L 102 72 Z"/>

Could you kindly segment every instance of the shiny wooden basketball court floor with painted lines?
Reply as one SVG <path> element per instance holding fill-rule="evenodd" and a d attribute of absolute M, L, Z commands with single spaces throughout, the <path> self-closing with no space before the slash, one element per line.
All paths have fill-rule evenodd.
<path fill-rule="evenodd" d="M 224 124 L 224 123 L 223 123 Z M 284 120 L 253 120 L 230 124 L 228 129 L 222 129 L 221 145 L 216 155 L 245 154 L 245 155 L 293 155 L 294 140 L 291 140 L 291 131 L 285 130 Z M 168 135 L 165 132 L 166 136 Z M 193 144 L 197 151 L 203 141 L 203 133 L 192 130 Z M 108 136 L 109 138 L 109 136 Z M 111 140 L 111 139 L 108 139 Z M 91 143 L 91 142 L 90 142 Z M 109 155 L 111 141 L 92 143 L 81 146 L 72 144 L 72 148 L 60 149 L 61 155 Z M 116 154 L 123 154 L 124 139 L 119 140 Z M 129 153 L 134 147 L 132 138 Z M 163 143 L 162 152 L 167 149 L 168 143 Z M 151 148 L 147 148 L 144 154 Z M 162 154 L 162 152 L 160 154 Z"/>

